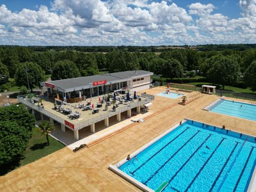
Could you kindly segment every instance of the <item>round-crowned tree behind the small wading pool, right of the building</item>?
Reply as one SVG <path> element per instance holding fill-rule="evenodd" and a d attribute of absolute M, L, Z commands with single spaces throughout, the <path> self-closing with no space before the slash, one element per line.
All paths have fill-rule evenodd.
<path fill-rule="evenodd" d="M 164 62 L 162 74 L 168 78 L 178 78 L 182 76 L 183 68 L 181 63 L 176 59 L 167 59 Z"/>

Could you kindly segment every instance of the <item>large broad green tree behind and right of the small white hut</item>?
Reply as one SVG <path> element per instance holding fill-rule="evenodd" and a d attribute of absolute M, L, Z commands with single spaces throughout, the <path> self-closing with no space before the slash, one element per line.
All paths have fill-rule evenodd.
<path fill-rule="evenodd" d="M 236 58 L 233 55 L 217 55 L 208 60 L 210 69 L 206 76 L 212 83 L 222 85 L 236 85 L 240 79 L 240 70 Z"/>

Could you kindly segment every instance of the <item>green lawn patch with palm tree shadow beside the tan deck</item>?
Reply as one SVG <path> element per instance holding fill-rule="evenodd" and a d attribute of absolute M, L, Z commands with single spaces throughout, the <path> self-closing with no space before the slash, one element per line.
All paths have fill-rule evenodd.
<path fill-rule="evenodd" d="M 29 140 L 28 146 L 24 152 L 24 156 L 19 162 L 13 162 L 10 165 L 5 165 L 0 167 L 0 175 L 4 175 L 20 166 L 26 165 L 28 163 L 34 162 L 39 158 L 53 153 L 63 147 L 65 147 L 59 141 L 49 137 L 50 146 L 47 146 L 47 141 L 44 135 L 38 131 L 37 127 L 34 127 L 32 132 L 32 137 Z"/>

